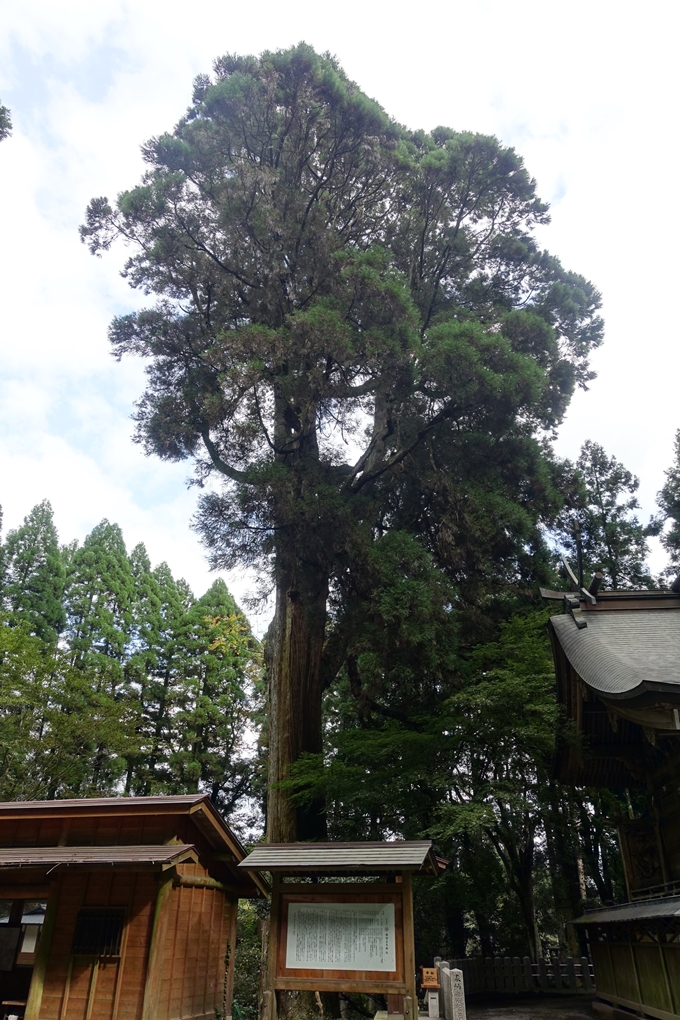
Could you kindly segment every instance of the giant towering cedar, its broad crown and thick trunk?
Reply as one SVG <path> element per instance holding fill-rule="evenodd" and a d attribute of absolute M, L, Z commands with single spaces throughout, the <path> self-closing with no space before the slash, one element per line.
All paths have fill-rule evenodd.
<path fill-rule="evenodd" d="M 541 438 L 590 377 L 599 296 L 538 247 L 547 207 L 513 149 L 404 129 L 304 44 L 216 60 L 143 151 L 83 239 L 123 240 L 158 296 L 111 325 L 148 362 L 138 441 L 221 474 L 197 520 L 214 564 L 271 571 L 269 831 L 318 835 L 281 781 L 321 749 L 376 548 L 404 532 L 468 602 L 535 572 Z"/>

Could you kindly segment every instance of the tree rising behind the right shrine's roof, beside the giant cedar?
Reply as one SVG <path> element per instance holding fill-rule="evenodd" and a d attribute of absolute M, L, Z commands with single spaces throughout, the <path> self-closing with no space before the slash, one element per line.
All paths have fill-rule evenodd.
<path fill-rule="evenodd" d="M 645 527 L 633 513 L 639 508 L 635 495 L 639 479 L 590 440 L 581 447 L 576 465 L 567 461 L 562 470 L 566 503 L 557 532 L 572 560 L 578 522 L 588 572 L 601 571 L 604 583 L 613 589 L 653 588 L 644 561 L 649 552 L 646 539 L 657 534 L 659 526 L 651 520 Z"/>

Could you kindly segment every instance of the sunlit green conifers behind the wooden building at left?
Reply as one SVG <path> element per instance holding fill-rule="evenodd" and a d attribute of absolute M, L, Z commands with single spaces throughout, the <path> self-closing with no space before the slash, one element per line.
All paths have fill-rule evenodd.
<path fill-rule="evenodd" d="M 60 550 L 47 502 L 0 553 L 0 797 L 250 796 L 259 649 L 223 581 L 196 600 L 106 520 Z"/>

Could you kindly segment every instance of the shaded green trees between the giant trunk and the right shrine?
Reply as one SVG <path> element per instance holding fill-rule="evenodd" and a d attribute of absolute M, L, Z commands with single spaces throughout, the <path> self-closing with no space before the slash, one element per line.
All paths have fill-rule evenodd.
<path fill-rule="evenodd" d="M 425 634 L 419 684 L 407 674 L 403 692 L 386 673 L 380 682 L 379 649 L 360 656 L 358 676 L 348 669 L 326 695 L 324 754 L 294 768 L 296 799 L 325 799 L 332 837 L 431 836 L 451 861 L 417 891 L 419 959 L 579 952 L 563 927 L 583 905 L 579 858 L 591 902 L 621 892 L 616 799 L 551 779 L 560 723 L 547 617 L 511 612 L 494 641 L 469 649 L 450 619 L 436 644 Z M 396 653 L 406 663 L 408 632 Z"/>

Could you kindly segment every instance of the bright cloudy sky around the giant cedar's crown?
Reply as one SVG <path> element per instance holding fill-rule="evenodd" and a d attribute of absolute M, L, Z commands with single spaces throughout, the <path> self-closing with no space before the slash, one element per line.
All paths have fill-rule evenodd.
<path fill-rule="evenodd" d="M 190 468 L 130 443 L 142 369 L 107 349 L 111 317 L 144 300 L 118 275 L 122 251 L 93 258 L 77 225 L 92 197 L 137 183 L 141 143 L 172 128 L 214 57 L 301 40 L 334 53 L 401 122 L 494 134 L 525 158 L 552 205 L 541 243 L 604 296 L 598 377 L 574 399 L 558 450 L 601 443 L 640 476 L 646 519 L 680 427 L 677 11 L 660 0 L 5 0 L 5 528 L 47 497 L 63 541 L 108 517 L 198 594 L 211 582 L 189 526 Z"/>

